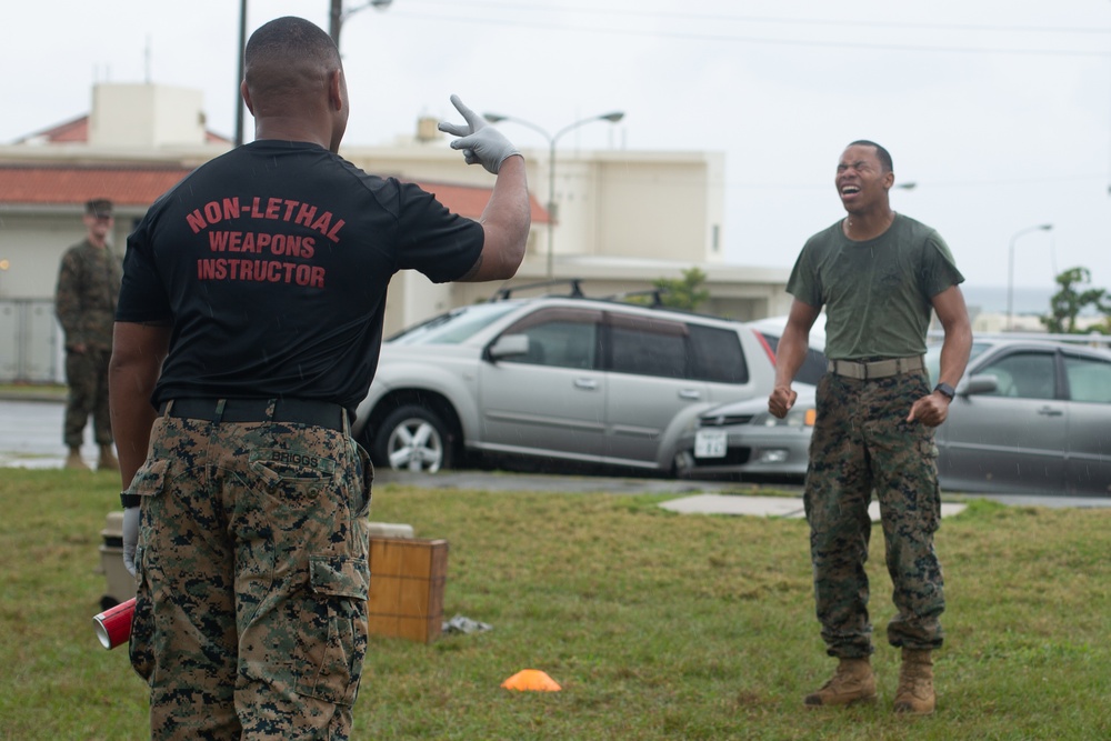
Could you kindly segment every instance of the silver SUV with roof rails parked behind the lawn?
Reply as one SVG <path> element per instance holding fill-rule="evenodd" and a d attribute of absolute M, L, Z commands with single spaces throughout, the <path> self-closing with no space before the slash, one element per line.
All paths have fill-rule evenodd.
<path fill-rule="evenodd" d="M 767 344 L 739 322 L 581 298 L 577 283 L 507 290 L 387 340 L 352 431 L 393 469 L 486 453 L 675 474 L 691 417 L 773 380 Z"/>

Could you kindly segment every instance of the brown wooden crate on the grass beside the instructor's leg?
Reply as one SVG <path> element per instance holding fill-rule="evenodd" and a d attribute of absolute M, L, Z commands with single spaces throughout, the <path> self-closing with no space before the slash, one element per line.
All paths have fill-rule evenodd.
<path fill-rule="evenodd" d="M 370 632 L 430 643 L 443 628 L 448 541 L 370 539 Z"/>

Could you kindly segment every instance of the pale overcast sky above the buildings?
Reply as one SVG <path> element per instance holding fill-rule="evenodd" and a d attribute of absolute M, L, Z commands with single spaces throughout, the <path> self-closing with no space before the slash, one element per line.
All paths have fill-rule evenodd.
<path fill-rule="evenodd" d="M 248 33 L 284 14 L 327 30 L 328 8 L 249 0 Z M 8 3 L 4 26 L 0 142 L 87 113 L 99 81 L 201 89 L 209 128 L 234 134 L 234 0 Z M 894 208 L 941 232 L 969 286 L 1007 286 L 1013 241 L 1015 287 L 1082 266 L 1111 289 L 1108 0 L 394 0 L 353 13 L 340 46 L 349 144 L 454 117 L 451 93 L 549 132 L 621 110 L 560 151 L 723 152 L 730 262 L 789 268 L 843 214 L 842 149 L 873 139 L 915 183 Z"/>

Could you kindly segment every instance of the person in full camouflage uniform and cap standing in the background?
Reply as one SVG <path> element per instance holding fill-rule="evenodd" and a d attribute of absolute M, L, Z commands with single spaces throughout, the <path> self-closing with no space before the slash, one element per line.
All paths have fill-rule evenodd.
<path fill-rule="evenodd" d="M 70 450 L 67 465 L 84 468 L 80 449 L 84 425 L 92 415 L 100 467 L 116 469 L 108 409 L 108 362 L 112 356 L 112 326 L 123 270 L 107 241 L 113 223 L 111 202 L 89 201 L 84 223 L 88 236 L 62 257 L 54 291 L 54 311 L 66 333 L 69 384 L 63 441 Z"/>

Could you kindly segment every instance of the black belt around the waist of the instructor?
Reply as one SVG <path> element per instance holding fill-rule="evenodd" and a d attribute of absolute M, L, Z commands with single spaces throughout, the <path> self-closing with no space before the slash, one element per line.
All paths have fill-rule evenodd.
<path fill-rule="evenodd" d="M 159 414 L 209 422 L 291 422 L 343 430 L 346 411 L 328 401 L 304 399 L 171 399 Z"/>

